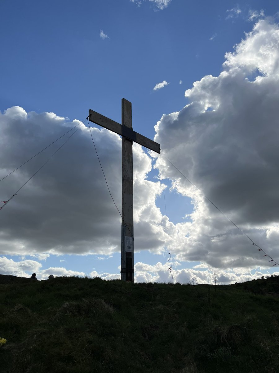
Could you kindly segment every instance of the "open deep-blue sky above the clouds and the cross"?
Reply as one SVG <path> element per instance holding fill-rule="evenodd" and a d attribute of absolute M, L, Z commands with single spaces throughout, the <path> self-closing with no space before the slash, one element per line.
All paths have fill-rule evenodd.
<path fill-rule="evenodd" d="M 185 106 L 194 81 L 220 73 L 225 52 L 251 30 L 248 10 L 263 5 L 278 11 L 274 1 L 251 1 L 226 19 L 233 1 L 173 0 L 158 11 L 150 1 L 1 1 L 1 109 L 83 120 L 94 107 L 120 121 L 126 97 L 134 126 L 154 136 L 154 123 Z M 170 85 L 154 92 L 164 80 Z"/>

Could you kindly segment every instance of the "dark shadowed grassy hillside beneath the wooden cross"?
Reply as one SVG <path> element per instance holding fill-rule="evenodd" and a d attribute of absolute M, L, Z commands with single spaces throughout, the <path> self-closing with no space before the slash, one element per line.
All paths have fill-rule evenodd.
<path fill-rule="evenodd" d="M 278 287 L 1 275 L 0 372 L 277 373 Z"/>

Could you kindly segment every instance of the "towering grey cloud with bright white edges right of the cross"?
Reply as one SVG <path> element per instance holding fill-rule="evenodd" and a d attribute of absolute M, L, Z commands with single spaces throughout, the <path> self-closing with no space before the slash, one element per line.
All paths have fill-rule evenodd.
<path fill-rule="evenodd" d="M 257 22 L 225 58 L 219 76 L 204 76 L 186 91 L 189 104 L 162 116 L 155 141 L 193 184 L 278 261 L 278 25 Z M 192 198 L 194 206 L 190 221 L 173 227 L 181 235 L 174 241 L 177 260 L 240 272 L 273 266 L 162 159 L 164 177 L 177 192 Z"/>

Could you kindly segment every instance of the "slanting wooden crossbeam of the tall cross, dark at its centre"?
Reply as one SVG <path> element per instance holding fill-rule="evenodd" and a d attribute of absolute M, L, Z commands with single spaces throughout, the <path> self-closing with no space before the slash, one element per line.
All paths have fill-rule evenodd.
<path fill-rule="evenodd" d="M 90 122 L 96 123 L 99 126 L 109 129 L 112 132 L 115 132 L 118 135 L 124 136 L 131 141 L 137 142 L 138 144 L 145 146 L 146 148 L 155 151 L 156 153 L 161 153 L 160 144 L 149 138 L 138 134 L 126 126 L 122 126 L 120 123 L 115 122 L 112 119 L 109 119 L 102 114 L 94 112 L 94 110 L 89 110 Z"/>

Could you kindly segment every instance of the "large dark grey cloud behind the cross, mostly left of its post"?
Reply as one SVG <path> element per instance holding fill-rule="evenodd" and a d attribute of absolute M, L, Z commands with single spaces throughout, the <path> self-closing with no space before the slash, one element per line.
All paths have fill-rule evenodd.
<path fill-rule="evenodd" d="M 7 175 L 78 123 L 76 120 L 69 123 L 54 113 L 27 114 L 20 107 L 6 110 L 0 115 L 0 176 Z M 92 134 L 110 191 L 121 211 L 121 138 L 106 129 L 92 128 Z M 69 135 L 4 179 L 0 183 L 1 200 L 9 199 Z M 134 154 L 137 249 L 157 247 L 160 250 L 164 239 L 158 239 L 152 225 L 157 226 L 161 220 L 154 203 L 161 188 L 158 183 L 144 180 L 147 170 L 151 169 L 151 159 L 139 146 L 134 147 Z M 147 206 L 151 206 L 151 210 Z M 157 222 L 150 222 L 153 210 Z M 4 206 L 0 219 L 2 254 L 110 254 L 120 250 L 121 217 L 106 187 L 88 128 L 81 125 Z M 149 245 L 141 229 L 150 237 Z"/>

